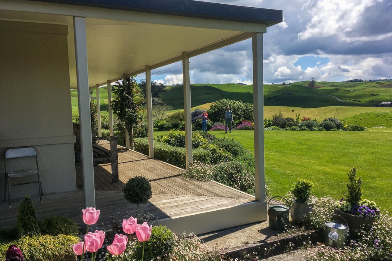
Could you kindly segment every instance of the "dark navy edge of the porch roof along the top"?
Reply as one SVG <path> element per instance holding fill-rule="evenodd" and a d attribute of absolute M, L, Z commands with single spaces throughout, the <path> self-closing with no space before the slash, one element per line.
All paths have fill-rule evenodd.
<path fill-rule="evenodd" d="M 217 4 L 194 0 L 31 0 L 72 4 L 146 13 L 171 14 L 217 20 L 264 23 L 267 26 L 283 21 L 281 10 Z"/>

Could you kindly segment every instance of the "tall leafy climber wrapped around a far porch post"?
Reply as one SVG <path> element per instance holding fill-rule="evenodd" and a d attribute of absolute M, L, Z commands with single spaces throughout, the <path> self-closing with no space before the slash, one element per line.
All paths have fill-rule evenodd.
<path fill-rule="evenodd" d="M 115 98 L 111 102 L 113 113 L 125 125 L 125 131 L 129 133 L 131 139 L 131 149 L 133 145 L 133 128 L 142 120 L 143 98 L 140 97 L 140 90 L 137 88 L 135 77 L 127 77 L 125 84 L 116 81 L 112 86 Z"/>

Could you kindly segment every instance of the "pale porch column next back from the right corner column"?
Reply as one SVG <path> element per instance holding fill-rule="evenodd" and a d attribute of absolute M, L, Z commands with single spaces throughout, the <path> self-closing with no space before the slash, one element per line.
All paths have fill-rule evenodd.
<path fill-rule="evenodd" d="M 189 79 L 189 55 L 182 52 L 182 74 L 184 85 L 184 113 L 185 113 L 185 153 L 186 164 L 192 163 L 192 122 L 191 122 L 191 83 Z"/>

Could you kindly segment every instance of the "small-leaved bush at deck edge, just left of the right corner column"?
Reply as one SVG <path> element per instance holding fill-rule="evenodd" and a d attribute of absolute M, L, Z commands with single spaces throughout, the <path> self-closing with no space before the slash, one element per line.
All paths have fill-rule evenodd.
<path fill-rule="evenodd" d="M 254 172 L 244 162 L 233 159 L 214 167 L 215 180 L 234 189 L 254 194 Z"/>

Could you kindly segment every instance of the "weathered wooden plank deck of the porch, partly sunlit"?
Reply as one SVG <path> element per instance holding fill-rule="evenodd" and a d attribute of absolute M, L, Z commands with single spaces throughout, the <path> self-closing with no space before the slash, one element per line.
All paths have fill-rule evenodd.
<path fill-rule="evenodd" d="M 107 147 L 109 142 L 100 141 L 100 145 Z M 94 167 L 96 207 L 101 210 L 97 225 L 104 229 L 111 228 L 113 219 L 128 218 L 129 212 L 136 209 L 135 205 L 123 198 L 122 193 L 125 183 L 135 176 L 145 176 L 151 184 L 152 198 L 140 209 L 153 214 L 156 220 L 225 209 L 254 201 L 254 197 L 217 182 L 182 178 L 178 167 L 150 159 L 135 151 L 120 150 L 118 164 L 120 181 L 116 183 L 111 183 L 110 164 Z M 42 203 L 39 198 L 33 198 L 38 219 L 64 215 L 82 226 L 83 182 L 79 164 L 76 165 L 76 183 L 77 191 L 46 194 Z M 16 201 L 11 208 L 8 208 L 6 202 L 0 203 L 0 226 L 15 224 L 19 203 Z"/>

